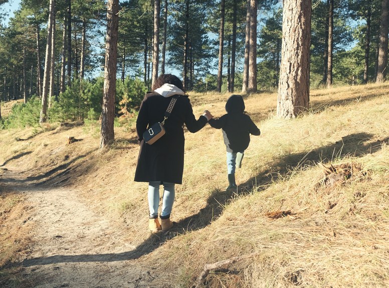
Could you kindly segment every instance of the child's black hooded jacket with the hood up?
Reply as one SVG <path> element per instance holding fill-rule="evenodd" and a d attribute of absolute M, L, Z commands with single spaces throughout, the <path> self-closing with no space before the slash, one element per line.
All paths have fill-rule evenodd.
<path fill-rule="evenodd" d="M 219 119 L 211 119 L 209 123 L 212 127 L 223 129 L 224 143 L 227 152 L 243 152 L 249 147 L 250 134 L 259 135 L 261 131 L 245 114 L 245 102 L 241 95 L 232 95 L 226 103 L 227 114 Z"/>

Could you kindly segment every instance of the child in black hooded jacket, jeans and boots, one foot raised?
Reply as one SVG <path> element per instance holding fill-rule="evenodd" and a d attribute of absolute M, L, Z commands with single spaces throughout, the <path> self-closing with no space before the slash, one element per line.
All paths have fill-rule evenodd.
<path fill-rule="evenodd" d="M 244 151 L 249 147 L 250 134 L 259 135 L 261 131 L 245 114 L 245 102 L 241 95 L 231 95 L 226 103 L 227 114 L 219 119 L 208 121 L 214 128 L 223 129 L 224 143 L 227 147 L 227 172 L 229 189 L 237 189 L 235 167 L 241 167 Z"/>

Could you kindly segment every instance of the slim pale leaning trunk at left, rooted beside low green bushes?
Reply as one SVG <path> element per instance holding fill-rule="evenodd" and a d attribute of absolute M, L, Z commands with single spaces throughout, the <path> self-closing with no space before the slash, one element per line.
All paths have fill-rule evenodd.
<path fill-rule="evenodd" d="M 42 91 L 42 107 L 39 123 L 47 122 L 47 97 L 49 92 L 49 80 L 50 80 L 50 62 L 51 62 L 51 45 L 53 34 L 53 21 L 55 13 L 55 0 L 50 0 L 50 13 L 49 21 L 47 24 L 47 44 L 46 44 L 46 56 L 45 56 L 45 70 L 43 74 L 43 91 Z"/>

